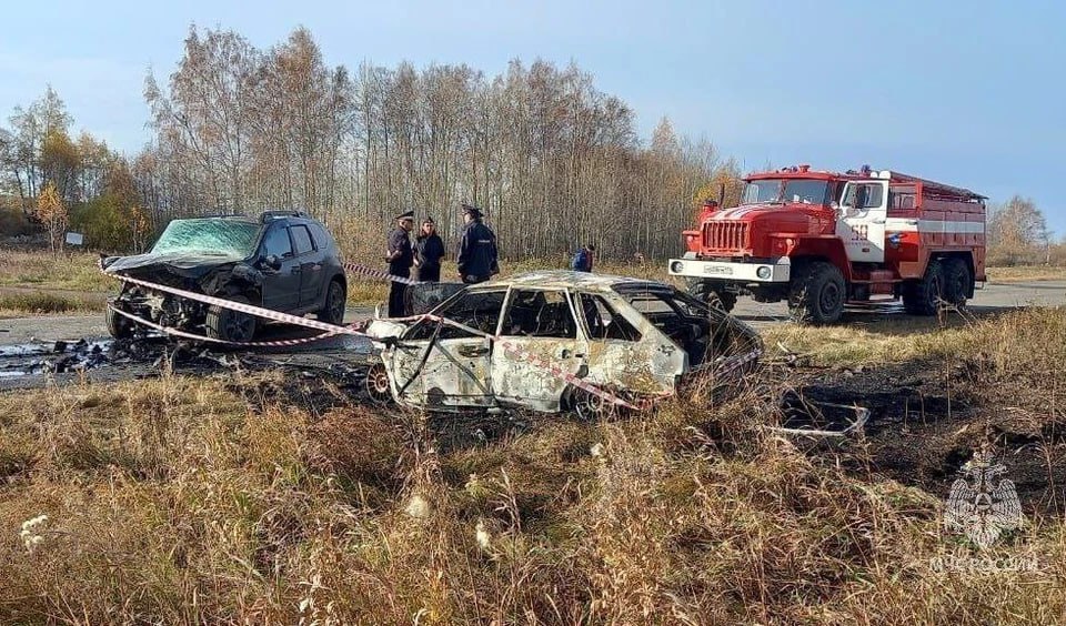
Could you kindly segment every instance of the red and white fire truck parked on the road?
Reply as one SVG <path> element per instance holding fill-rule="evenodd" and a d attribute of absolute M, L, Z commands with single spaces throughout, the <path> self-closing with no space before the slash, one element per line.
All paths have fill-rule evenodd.
<path fill-rule="evenodd" d="M 704 205 L 684 258 L 670 260 L 693 295 L 726 311 L 738 295 L 786 300 L 796 321 L 827 324 L 881 296 L 932 315 L 985 281 L 986 199 L 973 191 L 865 165 L 744 182 L 740 205 Z"/>

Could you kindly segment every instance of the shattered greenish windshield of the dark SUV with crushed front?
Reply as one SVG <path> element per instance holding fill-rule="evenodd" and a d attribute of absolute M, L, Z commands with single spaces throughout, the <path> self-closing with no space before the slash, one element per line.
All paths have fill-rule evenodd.
<path fill-rule="evenodd" d="M 152 246 L 152 254 L 198 253 L 244 259 L 255 250 L 259 224 L 219 218 L 174 220 Z"/>

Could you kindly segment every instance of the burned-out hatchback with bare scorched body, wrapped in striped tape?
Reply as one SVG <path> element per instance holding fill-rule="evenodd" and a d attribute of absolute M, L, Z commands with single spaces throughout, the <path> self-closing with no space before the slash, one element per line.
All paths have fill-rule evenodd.
<path fill-rule="evenodd" d="M 604 403 L 567 376 L 653 398 L 762 346 L 751 327 L 668 284 L 584 272 L 469 286 L 432 314 L 445 321 L 371 322 L 381 350 L 371 394 L 428 411 L 597 413 Z"/>

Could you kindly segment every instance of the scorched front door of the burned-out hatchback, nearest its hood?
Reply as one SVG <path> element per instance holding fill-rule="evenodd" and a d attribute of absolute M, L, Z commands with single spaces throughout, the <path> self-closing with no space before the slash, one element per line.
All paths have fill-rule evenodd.
<path fill-rule="evenodd" d="M 435 313 L 495 334 L 505 295 L 505 289 L 466 292 Z M 447 324 L 438 331 L 436 322 L 422 320 L 384 356 L 390 384 L 403 404 L 440 411 L 494 404 L 491 354 L 491 340 Z"/>

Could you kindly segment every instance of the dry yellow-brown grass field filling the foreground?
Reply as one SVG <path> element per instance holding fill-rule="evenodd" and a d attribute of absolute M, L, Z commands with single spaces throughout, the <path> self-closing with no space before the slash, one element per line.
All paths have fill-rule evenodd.
<path fill-rule="evenodd" d="M 872 339 L 774 331 L 807 367 L 771 350 L 732 398 L 601 423 L 428 418 L 280 372 L 3 394 L 0 622 L 1062 623 L 1066 311 Z M 811 376 L 883 424 L 763 430 Z M 1026 513 L 987 552 L 942 523 L 982 442 Z"/>

